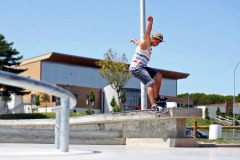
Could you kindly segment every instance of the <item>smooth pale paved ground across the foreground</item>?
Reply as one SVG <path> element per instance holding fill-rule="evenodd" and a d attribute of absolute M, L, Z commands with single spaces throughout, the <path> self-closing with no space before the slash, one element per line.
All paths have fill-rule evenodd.
<path fill-rule="evenodd" d="M 240 147 L 70 145 L 69 152 L 61 152 L 53 144 L 0 143 L 0 160 L 239 160 L 239 157 Z"/>

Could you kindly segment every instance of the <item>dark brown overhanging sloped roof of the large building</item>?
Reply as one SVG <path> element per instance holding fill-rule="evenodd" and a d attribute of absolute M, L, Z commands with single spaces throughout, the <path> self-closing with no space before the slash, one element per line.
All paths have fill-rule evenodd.
<path fill-rule="evenodd" d="M 97 68 L 95 62 L 99 61 L 99 59 L 93 59 L 93 58 L 80 57 L 80 56 L 52 52 L 52 53 L 44 54 L 44 55 L 41 55 L 38 57 L 26 59 L 26 60 L 22 61 L 21 65 L 36 62 L 36 61 L 57 62 L 57 63 L 65 63 L 65 64 L 73 64 L 73 65 Z M 156 69 L 157 71 L 162 73 L 164 78 L 183 79 L 183 78 L 187 78 L 189 76 L 189 74 L 187 74 L 187 73 L 168 71 L 168 70 L 162 70 L 162 69 L 157 69 L 157 68 L 154 68 L 154 69 Z"/>

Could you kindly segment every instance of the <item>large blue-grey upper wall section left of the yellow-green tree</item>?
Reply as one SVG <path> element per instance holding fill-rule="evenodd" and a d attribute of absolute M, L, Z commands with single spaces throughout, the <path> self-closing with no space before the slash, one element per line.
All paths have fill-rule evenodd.
<path fill-rule="evenodd" d="M 103 88 L 107 85 L 98 69 L 51 62 L 42 62 L 42 81 L 92 88 Z"/>

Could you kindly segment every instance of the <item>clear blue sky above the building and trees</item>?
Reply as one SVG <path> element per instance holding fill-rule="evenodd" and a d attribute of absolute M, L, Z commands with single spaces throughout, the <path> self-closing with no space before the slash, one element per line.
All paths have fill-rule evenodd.
<path fill-rule="evenodd" d="M 140 37 L 140 0 L 0 0 L 0 33 L 24 59 L 49 52 L 103 58 L 111 48 L 129 62 Z M 145 0 L 153 48 L 149 66 L 189 73 L 178 94 L 233 95 L 240 61 L 239 0 Z M 240 93 L 240 66 L 236 94 Z"/>

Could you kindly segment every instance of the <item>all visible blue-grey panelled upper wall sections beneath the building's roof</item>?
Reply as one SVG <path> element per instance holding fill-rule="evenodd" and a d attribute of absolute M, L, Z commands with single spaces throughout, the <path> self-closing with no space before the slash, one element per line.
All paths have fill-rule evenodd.
<path fill-rule="evenodd" d="M 92 88 L 104 88 L 107 81 L 99 74 L 99 69 L 51 62 L 42 62 L 42 80 L 53 84 L 69 84 Z M 138 79 L 132 77 L 125 88 L 141 89 Z M 163 79 L 161 95 L 176 96 L 177 80 Z"/>

